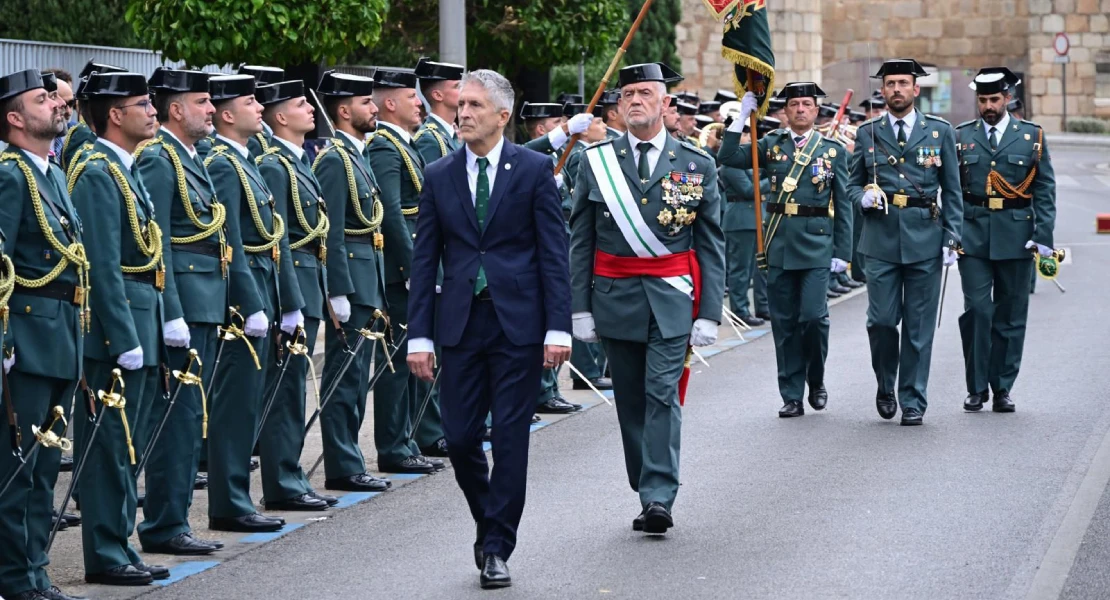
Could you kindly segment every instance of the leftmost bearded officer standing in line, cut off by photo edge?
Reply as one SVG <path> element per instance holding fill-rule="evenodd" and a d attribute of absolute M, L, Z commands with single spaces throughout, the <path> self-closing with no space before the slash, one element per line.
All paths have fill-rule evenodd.
<path fill-rule="evenodd" d="M 64 174 L 48 159 L 65 130 L 58 102 L 34 69 L 0 78 L 0 140 L 8 144 L 0 154 L 0 231 L 18 274 L 4 332 L 3 404 L 11 398 L 19 426 L 16 440 L 0 429 L 0 445 L 22 441 L 27 452 L 31 426 L 68 406 L 81 378 L 89 263 Z M 60 459 L 58 449 L 40 448 L 0 497 L 0 596 L 9 600 L 68 598 L 46 571 Z M 0 452 L 4 478 L 18 466 L 16 455 Z"/>

